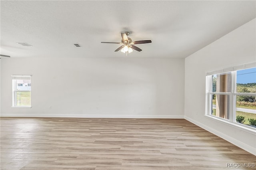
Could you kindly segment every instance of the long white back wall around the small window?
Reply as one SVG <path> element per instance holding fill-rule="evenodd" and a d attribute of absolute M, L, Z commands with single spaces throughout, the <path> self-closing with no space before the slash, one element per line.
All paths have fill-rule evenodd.
<path fill-rule="evenodd" d="M 12 108 L 11 75 L 32 75 Z M 184 118 L 184 59 L 2 58 L 1 116 Z"/>

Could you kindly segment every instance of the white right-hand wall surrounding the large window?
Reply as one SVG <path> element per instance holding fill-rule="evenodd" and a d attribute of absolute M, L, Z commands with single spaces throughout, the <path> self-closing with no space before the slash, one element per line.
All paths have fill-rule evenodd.
<path fill-rule="evenodd" d="M 205 73 L 256 61 L 255 19 L 185 59 L 185 119 L 256 154 L 256 132 L 205 115 Z"/>

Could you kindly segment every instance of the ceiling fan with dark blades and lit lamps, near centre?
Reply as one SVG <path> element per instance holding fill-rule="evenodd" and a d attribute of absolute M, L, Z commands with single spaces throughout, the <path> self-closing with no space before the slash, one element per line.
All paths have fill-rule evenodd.
<path fill-rule="evenodd" d="M 128 35 L 130 34 L 130 32 L 124 32 L 121 33 L 122 36 L 122 40 L 120 43 L 118 42 L 101 42 L 101 43 L 117 43 L 117 44 L 121 44 L 120 47 L 118 47 L 118 49 L 116 49 L 115 51 L 119 51 L 121 49 L 121 52 L 123 53 L 131 53 L 134 49 L 136 51 L 142 51 L 142 49 L 140 49 L 139 47 L 136 47 L 134 44 L 142 44 L 142 43 L 151 43 L 151 40 L 140 40 L 140 41 L 132 41 L 132 39 L 128 38 Z"/>

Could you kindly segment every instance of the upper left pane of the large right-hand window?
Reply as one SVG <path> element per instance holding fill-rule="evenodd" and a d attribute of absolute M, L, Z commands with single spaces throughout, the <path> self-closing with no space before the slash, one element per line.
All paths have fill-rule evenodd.
<path fill-rule="evenodd" d="M 231 92 L 231 73 L 212 75 L 212 92 Z"/>

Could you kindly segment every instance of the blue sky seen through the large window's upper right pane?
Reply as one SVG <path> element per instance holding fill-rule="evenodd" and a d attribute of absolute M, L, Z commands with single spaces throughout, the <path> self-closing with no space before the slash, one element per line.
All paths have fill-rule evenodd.
<path fill-rule="evenodd" d="M 251 69 L 238 70 L 236 72 L 236 83 L 256 83 L 256 67 Z"/>

